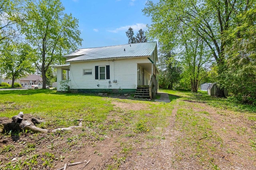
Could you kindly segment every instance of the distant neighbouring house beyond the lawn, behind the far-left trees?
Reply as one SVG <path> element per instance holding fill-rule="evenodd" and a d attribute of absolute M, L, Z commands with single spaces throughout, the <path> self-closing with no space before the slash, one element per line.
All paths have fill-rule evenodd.
<path fill-rule="evenodd" d="M 4 79 L 3 82 L 12 85 L 11 79 Z M 28 87 L 28 85 L 41 85 L 43 79 L 40 75 L 28 74 L 27 77 L 16 79 L 14 82 L 20 83 L 22 87 Z"/>

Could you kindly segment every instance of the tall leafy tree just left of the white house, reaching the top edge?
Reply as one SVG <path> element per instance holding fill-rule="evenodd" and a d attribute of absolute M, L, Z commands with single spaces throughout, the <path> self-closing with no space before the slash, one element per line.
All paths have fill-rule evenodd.
<path fill-rule="evenodd" d="M 58 62 L 62 54 L 77 49 L 82 42 L 78 20 L 63 11 L 60 0 L 28 0 L 26 21 L 19 23 L 26 40 L 38 52 L 35 65 L 42 73 L 44 89 L 50 65 Z"/>

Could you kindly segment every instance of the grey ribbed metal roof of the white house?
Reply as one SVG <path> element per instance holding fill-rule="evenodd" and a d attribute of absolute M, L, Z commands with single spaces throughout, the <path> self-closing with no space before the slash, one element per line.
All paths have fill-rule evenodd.
<path fill-rule="evenodd" d="M 67 61 L 81 61 L 92 59 L 107 59 L 116 57 L 141 57 L 150 56 L 156 49 L 156 42 L 131 43 L 96 48 L 83 48 L 64 57 L 74 57 Z"/>

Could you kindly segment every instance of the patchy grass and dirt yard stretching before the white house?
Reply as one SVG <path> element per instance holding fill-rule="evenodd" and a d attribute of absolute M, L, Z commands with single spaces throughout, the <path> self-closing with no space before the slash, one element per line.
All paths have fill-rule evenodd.
<path fill-rule="evenodd" d="M 83 160 L 90 160 L 88 169 L 156 169 L 157 163 L 166 169 L 255 167 L 255 106 L 203 91 L 160 92 L 171 102 L 48 89 L 0 91 L 0 117 L 22 111 L 45 120 L 37 126 L 49 130 L 83 119 L 74 130 L 0 134 L 0 169 L 58 169 Z"/>

